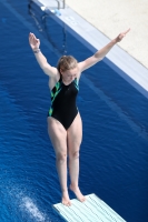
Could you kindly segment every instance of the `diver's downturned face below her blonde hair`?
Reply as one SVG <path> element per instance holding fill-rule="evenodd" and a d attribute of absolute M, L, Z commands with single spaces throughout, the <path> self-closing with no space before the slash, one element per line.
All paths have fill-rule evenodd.
<path fill-rule="evenodd" d="M 66 70 L 66 71 L 62 71 L 60 69 L 60 73 L 62 74 L 63 82 L 69 83 L 69 82 L 72 82 L 75 78 L 77 78 L 78 68 L 76 67 L 73 69 Z"/>

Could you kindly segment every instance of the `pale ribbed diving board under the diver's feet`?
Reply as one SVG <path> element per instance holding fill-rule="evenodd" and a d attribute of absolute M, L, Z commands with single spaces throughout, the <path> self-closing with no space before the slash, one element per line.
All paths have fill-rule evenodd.
<path fill-rule="evenodd" d="M 57 203 L 52 208 L 67 222 L 126 222 L 95 193 L 86 195 L 83 203 L 73 199 L 70 206 Z"/>

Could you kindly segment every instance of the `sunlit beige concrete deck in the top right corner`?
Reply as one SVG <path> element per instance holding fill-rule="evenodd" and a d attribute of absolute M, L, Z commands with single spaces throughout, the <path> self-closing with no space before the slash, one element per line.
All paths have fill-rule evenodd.
<path fill-rule="evenodd" d="M 130 28 L 119 46 L 148 69 L 147 0 L 66 0 L 66 3 L 109 39 Z"/>

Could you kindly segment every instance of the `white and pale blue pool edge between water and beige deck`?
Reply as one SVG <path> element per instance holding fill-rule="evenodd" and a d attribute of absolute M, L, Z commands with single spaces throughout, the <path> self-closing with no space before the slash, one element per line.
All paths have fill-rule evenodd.
<path fill-rule="evenodd" d="M 51 13 L 53 11 L 53 0 L 34 0 L 43 6 L 43 10 Z M 51 4 L 51 7 L 50 7 Z M 71 8 L 60 9 L 60 16 L 53 17 L 57 22 L 66 23 L 66 30 L 71 32 L 79 41 L 81 41 L 92 53 L 99 50 L 110 40 L 102 34 L 97 28 L 86 21 Z M 125 40 L 122 40 L 125 41 Z M 103 61 L 109 64 L 118 74 L 135 87 L 140 93 L 148 99 L 148 69 L 134 59 L 129 53 L 119 46 L 115 46 L 106 56 Z"/>

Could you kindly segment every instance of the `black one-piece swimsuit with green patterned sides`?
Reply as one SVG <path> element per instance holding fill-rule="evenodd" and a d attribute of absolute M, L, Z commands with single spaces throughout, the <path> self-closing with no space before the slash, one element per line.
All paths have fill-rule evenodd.
<path fill-rule="evenodd" d="M 78 91 L 79 84 L 77 79 L 66 85 L 61 78 L 51 90 L 51 108 L 48 117 L 57 119 L 66 130 L 71 125 L 78 114 L 76 107 Z"/>

